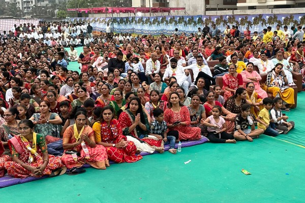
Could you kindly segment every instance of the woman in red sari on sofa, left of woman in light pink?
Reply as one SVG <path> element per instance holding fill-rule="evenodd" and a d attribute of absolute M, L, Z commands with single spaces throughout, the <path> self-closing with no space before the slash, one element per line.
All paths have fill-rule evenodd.
<path fill-rule="evenodd" d="M 223 76 L 223 89 L 225 90 L 224 99 L 228 100 L 229 97 L 235 94 L 238 87 L 242 86 L 242 76 L 236 73 L 236 65 L 231 63 L 229 65 L 229 73 Z"/>

